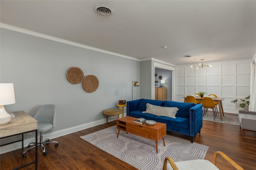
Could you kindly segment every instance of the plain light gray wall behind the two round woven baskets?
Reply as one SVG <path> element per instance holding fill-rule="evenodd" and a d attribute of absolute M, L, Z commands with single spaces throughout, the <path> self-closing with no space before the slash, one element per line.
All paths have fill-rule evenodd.
<path fill-rule="evenodd" d="M 58 131 L 104 119 L 103 110 L 118 100 L 132 99 L 132 81 L 140 80 L 140 62 L 1 28 L 0 82 L 14 83 L 16 103 L 7 112 L 34 115 L 42 104 L 56 104 Z M 71 84 L 66 72 L 81 68 L 93 74 L 99 87 L 85 92 Z M 134 98 L 140 98 L 136 88 Z"/>

